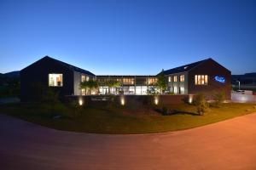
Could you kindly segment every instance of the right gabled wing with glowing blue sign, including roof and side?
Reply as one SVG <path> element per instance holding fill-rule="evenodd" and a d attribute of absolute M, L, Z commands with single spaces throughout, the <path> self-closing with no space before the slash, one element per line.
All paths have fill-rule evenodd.
<path fill-rule="evenodd" d="M 231 72 L 213 59 L 204 59 L 183 65 L 164 71 L 164 74 L 169 91 L 173 94 L 216 94 L 222 92 L 226 94 L 227 99 L 230 99 Z"/>

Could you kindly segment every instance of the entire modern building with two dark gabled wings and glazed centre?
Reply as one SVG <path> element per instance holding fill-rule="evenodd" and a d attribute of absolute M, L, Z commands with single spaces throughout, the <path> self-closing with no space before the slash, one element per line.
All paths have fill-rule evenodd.
<path fill-rule="evenodd" d="M 211 94 L 222 91 L 230 96 L 231 72 L 213 59 L 204 59 L 162 73 L 166 78 L 165 94 Z M 158 93 L 156 83 L 159 74 L 155 76 L 96 76 L 90 71 L 46 56 L 20 71 L 21 100 L 29 101 L 37 97 L 32 90 L 37 83 L 55 89 L 62 96 L 85 95 L 85 90 L 79 85 L 80 82 L 89 80 L 99 82 L 99 88 L 91 94 L 147 95 Z M 114 82 L 114 85 L 109 82 Z"/>

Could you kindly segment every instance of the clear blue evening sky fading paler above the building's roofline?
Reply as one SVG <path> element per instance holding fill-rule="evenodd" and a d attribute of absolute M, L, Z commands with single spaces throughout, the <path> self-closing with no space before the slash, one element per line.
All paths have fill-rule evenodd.
<path fill-rule="evenodd" d="M 256 1 L 0 0 L 0 72 L 45 55 L 97 75 L 209 57 L 232 74 L 256 71 Z"/>

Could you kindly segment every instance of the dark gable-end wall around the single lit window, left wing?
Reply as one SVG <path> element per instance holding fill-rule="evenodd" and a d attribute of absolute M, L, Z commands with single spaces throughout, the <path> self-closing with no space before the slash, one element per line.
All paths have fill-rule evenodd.
<path fill-rule="evenodd" d="M 56 64 L 50 59 L 40 59 L 36 63 L 29 65 L 20 71 L 20 99 L 21 101 L 35 101 L 38 99 L 38 94 L 35 91 L 35 86 L 49 86 L 49 73 L 63 74 L 63 86 L 51 87 L 56 92 L 62 95 L 73 94 L 73 71 L 70 71 L 62 65 Z"/>

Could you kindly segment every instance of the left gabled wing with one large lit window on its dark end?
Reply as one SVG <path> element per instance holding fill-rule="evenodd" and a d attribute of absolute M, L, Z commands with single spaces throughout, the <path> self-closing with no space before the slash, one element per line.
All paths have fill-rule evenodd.
<path fill-rule="evenodd" d="M 61 80 L 50 86 L 60 96 L 79 94 L 81 75 L 93 78 L 94 74 L 73 65 L 52 59 L 48 56 L 39 59 L 20 71 L 20 99 L 34 101 L 38 99 L 38 86 L 49 87 L 49 75 L 61 75 Z M 57 77 L 58 78 L 58 77 Z"/>

